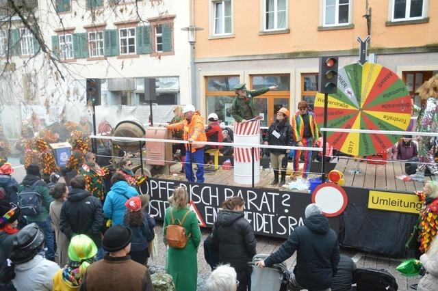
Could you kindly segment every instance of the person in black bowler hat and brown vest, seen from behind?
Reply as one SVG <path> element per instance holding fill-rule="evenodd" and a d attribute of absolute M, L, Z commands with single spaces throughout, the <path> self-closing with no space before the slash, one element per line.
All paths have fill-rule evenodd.
<path fill-rule="evenodd" d="M 123 225 L 108 228 L 102 245 L 109 254 L 87 268 L 80 290 L 154 290 L 148 268 L 134 262 L 128 255 L 131 237 L 131 230 Z"/>

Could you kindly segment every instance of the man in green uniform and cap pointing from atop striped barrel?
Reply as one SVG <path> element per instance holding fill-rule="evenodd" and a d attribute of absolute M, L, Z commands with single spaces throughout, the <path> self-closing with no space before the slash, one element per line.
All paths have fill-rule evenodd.
<path fill-rule="evenodd" d="M 236 122 L 245 123 L 256 117 L 253 97 L 265 94 L 270 90 L 276 90 L 276 86 L 270 86 L 257 90 L 246 91 L 246 83 L 234 86 L 235 98 L 231 106 L 231 114 Z"/>

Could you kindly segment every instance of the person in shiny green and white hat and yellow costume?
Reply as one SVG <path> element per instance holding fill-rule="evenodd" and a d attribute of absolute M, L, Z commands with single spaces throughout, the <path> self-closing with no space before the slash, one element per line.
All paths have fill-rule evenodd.
<path fill-rule="evenodd" d="M 73 236 L 68 245 L 68 262 L 53 277 L 53 291 L 79 290 L 83 275 L 96 260 L 97 247 L 85 234 Z"/>

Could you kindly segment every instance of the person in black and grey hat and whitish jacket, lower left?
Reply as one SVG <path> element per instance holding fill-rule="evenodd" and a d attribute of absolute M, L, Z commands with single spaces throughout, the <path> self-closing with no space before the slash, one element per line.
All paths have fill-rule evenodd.
<path fill-rule="evenodd" d="M 12 240 L 12 264 L 3 265 L 3 280 L 14 283 L 16 290 L 52 290 L 53 276 L 60 267 L 43 258 L 44 233 L 36 223 L 23 227 Z"/>

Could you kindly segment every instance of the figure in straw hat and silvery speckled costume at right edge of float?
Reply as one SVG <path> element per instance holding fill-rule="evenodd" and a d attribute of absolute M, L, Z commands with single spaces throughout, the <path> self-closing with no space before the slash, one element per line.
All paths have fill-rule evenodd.
<path fill-rule="evenodd" d="M 423 100 L 426 100 L 426 105 L 421 109 L 417 118 L 417 131 L 422 133 L 437 133 L 438 132 L 438 74 L 424 82 L 417 93 Z M 434 138 L 433 138 L 434 139 Z M 411 175 L 413 180 L 420 182 L 424 181 L 424 171 L 429 168 L 430 173 L 438 179 L 438 165 L 433 158 L 431 150 L 430 137 L 419 137 L 418 139 L 418 161 L 422 163 L 417 167 L 417 172 Z M 436 142 L 436 137 L 435 141 Z"/>

